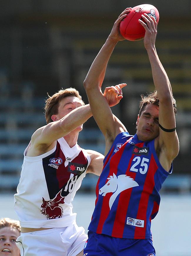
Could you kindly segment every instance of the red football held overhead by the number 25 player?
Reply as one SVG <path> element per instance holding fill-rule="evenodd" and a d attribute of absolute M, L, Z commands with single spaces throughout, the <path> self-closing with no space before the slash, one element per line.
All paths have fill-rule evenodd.
<path fill-rule="evenodd" d="M 125 39 L 137 41 L 144 38 L 145 29 L 138 21 L 139 19 L 142 19 L 141 15 L 144 13 L 153 16 L 158 23 L 159 12 L 155 6 L 151 4 L 140 4 L 135 6 L 120 22 L 120 33 Z"/>

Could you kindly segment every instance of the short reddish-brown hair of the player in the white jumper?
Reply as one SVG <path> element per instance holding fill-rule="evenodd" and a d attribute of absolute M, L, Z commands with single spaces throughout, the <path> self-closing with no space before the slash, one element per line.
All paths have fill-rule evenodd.
<path fill-rule="evenodd" d="M 69 96 L 75 96 L 83 102 L 81 95 L 75 88 L 67 88 L 67 89 L 62 88 L 52 96 L 48 95 L 48 99 L 46 100 L 45 107 L 44 107 L 47 124 L 53 122 L 53 120 L 51 119 L 52 115 L 58 114 L 58 106 L 61 100 Z"/>

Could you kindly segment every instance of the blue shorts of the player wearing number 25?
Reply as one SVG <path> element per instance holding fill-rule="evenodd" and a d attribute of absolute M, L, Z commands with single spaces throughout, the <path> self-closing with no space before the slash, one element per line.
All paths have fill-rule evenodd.
<path fill-rule="evenodd" d="M 84 255 L 87 256 L 155 256 L 151 239 L 126 239 L 88 232 Z"/>

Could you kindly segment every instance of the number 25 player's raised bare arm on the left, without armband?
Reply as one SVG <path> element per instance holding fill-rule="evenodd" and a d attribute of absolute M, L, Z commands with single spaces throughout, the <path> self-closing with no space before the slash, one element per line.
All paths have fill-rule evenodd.
<path fill-rule="evenodd" d="M 130 12 L 130 9 L 131 8 L 125 9 L 115 21 L 108 39 L 93 61 L 84 81 L 84 87 L 88 95 L 93 117 L 105 136 L 107 149 L 110 148 L 116 135 L 124 131 L 124 125 L 118 119 L 113 117 L 108 102 L 105 100 L 103 93 L 101 92 L 101 85 L 105 76 L 108 60 L 113 52 L 113 49 L 115 48 L 115 45 L 118 41 L 124 40 L 119 33 L 119 24 L 120 21 L 126 17 L 127 13 Z M 121 94 L 121 88 L 123 88 L 125 85 L 126 84 L 118 85 L 118 95 Z M 120 99 L 121 96 L 118 97 Z M 107 154 L 107 149 L 105 154 Z"/>

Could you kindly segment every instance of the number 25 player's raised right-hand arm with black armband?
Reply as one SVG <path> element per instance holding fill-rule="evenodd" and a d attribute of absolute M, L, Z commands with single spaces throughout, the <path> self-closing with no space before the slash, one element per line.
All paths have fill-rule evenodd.
<path fill-rule="evenodd" d="M 142 15 L 140 24 L 145 28 L 144 45 L 147 50 L 155 88 L 159 98 L 159 123 L 165 129 L 176 127 L 175 114 L 172 104 L 172 89 L 168 76 L 163 68 L 155 48 L 157 35 L 157 22 L 148 14 Z M 179 141 L 176 131 L 166 132 L 159 128 L 159 137 L 155 139 L 155 148 L 159 147 L 159 161 L 167 171 L 170 169 L 172 160 L 179 151 Z"/>

